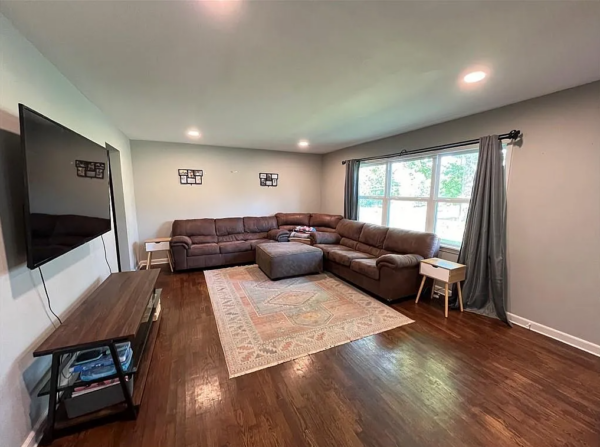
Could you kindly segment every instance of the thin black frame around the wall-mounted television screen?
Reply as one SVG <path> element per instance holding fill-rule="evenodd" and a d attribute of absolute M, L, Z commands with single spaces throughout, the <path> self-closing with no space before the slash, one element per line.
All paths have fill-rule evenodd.
<path fill-rule="evenodd" d="M 24 222 L 24 227 L 25 227 L 25 245 L 26 245 L 26 249 L 27 249 L 27 267 L 30 270 L 35 270 L 38 267 L 43 266 L 44 264 L 47 264 L 50 261 L 54 261 L 55 259 L 60 258 L 61 256 L 66 255 L 67 253 L 75 250 L 76 248 L 81 247 L 82 245 L 87 244 L 90 241 L 93 241 L 94 239 L 96 239 L 99 236 L 102 236 L 106 233 L 110 233 L 112 231 L 112 219 L 109 218 L 109 222 L 111 223 L 111 227 L 106 230 L 103 231 L 102 233 L 97 234 L 96 236 L 84 240 L 82 242 L 80 242 L 77 245 L 73 245 L 68 251 L 58 255 L 58 256 L 54 256 L 53 258 L 48 258 L 48 259 L 44 259 L 42 262 L 38 262 L 37 264 L 33 262 L 33 241 L 31 240 L 31 222 L 30 222 L 30 216 L 31 216 L 31 209 L 30 209 L 30 204 L 29 204 L 29 179 L 27 177 L 27 147 L 25 144 L 25 120 L 23 119 L 23 112 L 27 110 L 30 113 L 33 113 L 47 121 L 50 121 L 51 123 L 63 128 L 64 130 L 71 132 L 75 135 L 80 136 L 81 138 L 85 138 L 86 140 L 88 140 L 89 142 L 95 144 L 96 146 L 98 146 L 100 149 L 103 149 L 104 152 L 106 153 L 106 158 L 107 158 L 107 166 L 108 169 L 110 169 L 110 156 L 108 153 L 108 150 L 106 148 L 103 148 L 102 146 L 100 146 L 98 143 L 96 143 L 95 141 L 90 140 L 89 138 L 81 135 L 80 133 L 75 132 L 72 129 L 69 129 L 67 126 L 62 125 L 61 123 L 54 121 L 53 119 L 48 118 L 45 115 L 42 115 L 41 113 L 33 110 L 30 107 L 27 107 L 25 104 L 21 104 L 19 103 L 19 129 L 21 132 L 21 156 L 22 156 L 22 162 L 23 162 L 23 193 L 24 193 L 24 198 L 23 198 L 23 222 Z M 111 188 L 111 184 L 109 181 L 109 194 L 112 197 L 113 192 L 112 192 L 112 188 Z M 111 213 L 110 210 L 110 199 L 109 199 L 109 203 L 108 203 L 108 213 Z"/>

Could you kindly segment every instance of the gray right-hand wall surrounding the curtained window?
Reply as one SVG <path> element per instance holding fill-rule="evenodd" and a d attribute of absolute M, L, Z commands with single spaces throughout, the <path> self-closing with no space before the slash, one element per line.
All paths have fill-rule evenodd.
<path fill-rule="evenodd" d="M 321 210 L 343 210 L 344 159 L 511 129 L 509 311 L 600 344 L 600 82 L 327 154 Z"/>

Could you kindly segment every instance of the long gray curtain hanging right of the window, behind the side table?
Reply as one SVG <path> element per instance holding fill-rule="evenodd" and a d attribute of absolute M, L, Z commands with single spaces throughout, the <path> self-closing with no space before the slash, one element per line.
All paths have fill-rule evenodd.
<path fill-rule="evenodd" d="M 467 266 L 463 285 L 465 309 L 508 324 L 506 189 L 498 135 L 479 141 L 479 161 L 458 262 Z"/>

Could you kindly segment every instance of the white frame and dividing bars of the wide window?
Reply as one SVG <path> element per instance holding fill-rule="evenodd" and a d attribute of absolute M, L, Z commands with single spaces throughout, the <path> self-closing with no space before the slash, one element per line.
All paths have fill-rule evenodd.
<path fill-rule="evenodd" d="M 503 149 L 506 149 L 506 172 L 505 176 L 508 178 L 508 168 L 510 167 L 510 145 L 502 145 Z M 425 229 L 423 231 L 427 231 L 430 233 L 435 233 L 435 228 L 437 224 L 437 208 L 439 203 L 466 203 L 469 204 L 471 202 L 471 198 L 445 198 L 439 197 L 439 186 L 440 186 L 440 168 L 441 168 L 441 160 L 444 155 L 466 155 L 472 153 L 479 152 L 479 145 L 470 145 L 463 148 L 450 148 L 444 149 L 441 151 L 436 151 L 430 154 L 418 154 L 413 156 L 402 156 L 402 157 L 392 157 L 387 159 L 378 159 L 368 162 L 361 163 L 360 168 L 363 166 L 378 166 L 378 165 L 386 165 L 385 169 L 385 186 L 384 186 L 384 195 L 383 196 L 358 196 L 358 200 L 361 199 L 370 199 L 370 200 L 381 200 L 382 201 L 382 213 L 381 213 L 381 222 L 379 225 L 389 226 L 390 222 L 390 207 L 392 201 L 405 201 L 405 202 L 426 202 L 427 211 L 426 211 L 426 219 L 425 219 Z M 431 165 L 431 186 L 429 189 L 429 196 L 419 197 L 419 196 L 391 196 L 391 187 L 392 187 L 392 166 L 394 163 L 398 162 L 406 162 L 412 160 L 423 160 L 423 159 L 432 159 Z M 359 171 L 360 172 L 360 171 Z M 360 174 L 359 174 L 360 181 Z M 507 182 L 506 182 L 507 183 Z M 359 221 L 360 221 L 360 208 L 359 208 Z M 460 250 L 462 245 L 462 241 L 459 244 L 453 244 L 452 241 L 441 239 L 440 245 L 444 249 L 449 250 Z"/>

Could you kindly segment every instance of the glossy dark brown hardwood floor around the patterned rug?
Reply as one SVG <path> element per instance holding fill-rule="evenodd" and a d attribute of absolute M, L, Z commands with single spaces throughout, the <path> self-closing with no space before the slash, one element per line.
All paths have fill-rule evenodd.
<path fill-rule="evenodd" d="M 137 421 L 53 445 L 600 446 L 600 358 L 542 335 L 407 301 L 413 324 L 229 379 L 203 273 L 159 287 Z"/>

